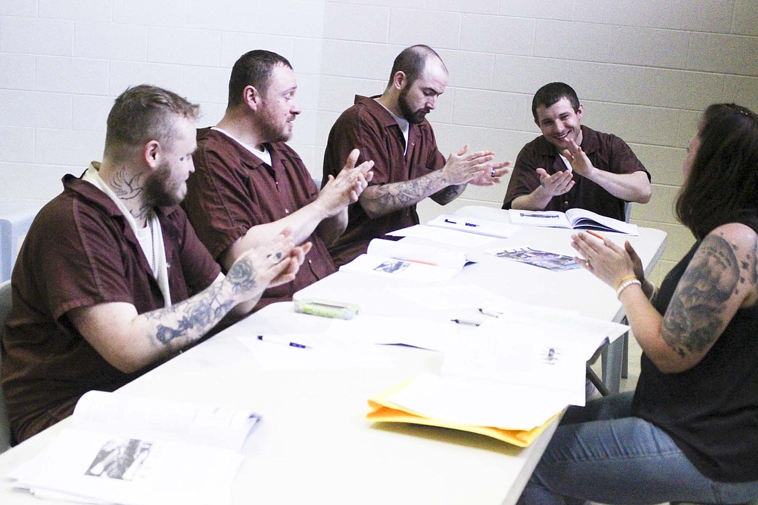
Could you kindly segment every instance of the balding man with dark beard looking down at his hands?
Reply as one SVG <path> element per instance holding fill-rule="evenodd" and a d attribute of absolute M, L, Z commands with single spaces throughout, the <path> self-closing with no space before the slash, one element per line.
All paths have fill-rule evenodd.
<path fill-rule="evenodd" d="M 403 49 L 381 96 L 356 96 L 332 127 L 324 152 L 324 180 L 335 162 L 351 149 L 358 161 L 374 162 L 374 178 L 358 202 L 349 206 L 345 233 L 330 247 L 335 265 L 344 265 L 368 247 L 371 239 L 418 224 L 416 204 L 431 196 L 440 205 L 452 202 L 468 183 L 500 183 L 509 162 L 493 162 L 490 151 L 468 152 L 463 146 L 447 159 L 437 149 L 426 115 L 437 107 L 448 72 L 427 45 Z"/>

